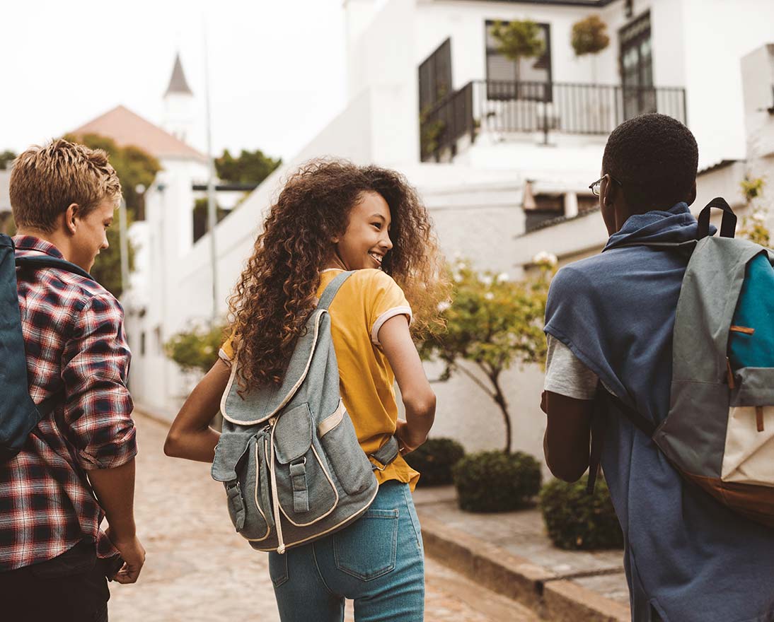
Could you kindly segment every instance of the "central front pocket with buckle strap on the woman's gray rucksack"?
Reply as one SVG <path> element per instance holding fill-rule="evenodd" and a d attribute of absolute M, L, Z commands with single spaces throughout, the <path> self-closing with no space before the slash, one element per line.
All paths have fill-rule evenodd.
<path fill-rule="evenodd" d="M 277 420 L 273 443 L 279 508 L 296 527 L 311 525 L 336 508 L 338 492 L 312 438 L 307 404 L 291 408 Z"/>

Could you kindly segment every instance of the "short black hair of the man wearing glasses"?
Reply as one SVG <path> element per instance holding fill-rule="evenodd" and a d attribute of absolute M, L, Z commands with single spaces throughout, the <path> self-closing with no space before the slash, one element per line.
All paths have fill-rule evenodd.
<path fill-rule="evenodd" d="M 690 130 L 666 114 L 618 125 L 604 145 L 602 173 L 622 183 L 632 210 L 668 210 L 690 197 L 699 149 Z"/>

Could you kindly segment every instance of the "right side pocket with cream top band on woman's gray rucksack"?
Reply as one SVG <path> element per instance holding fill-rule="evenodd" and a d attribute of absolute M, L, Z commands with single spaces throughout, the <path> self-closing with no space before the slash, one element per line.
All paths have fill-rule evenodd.
<path fill-rule="evenodd" d="M 358 494 L 372 484 L 374 475 L 371 461 L 358 443 L 358 435 L 344 408 L 344 402 L 339 401 L 336 411 L 320 422 L 317 434 L 328 462 L 347 494 Z"/>

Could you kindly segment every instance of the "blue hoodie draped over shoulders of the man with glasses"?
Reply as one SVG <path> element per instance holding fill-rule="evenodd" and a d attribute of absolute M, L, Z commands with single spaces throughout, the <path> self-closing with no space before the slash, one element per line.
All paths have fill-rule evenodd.
<path fill-rule="evenodd" d="M 688 256 L 625 247 L 696 238 L 685 203 L 632 216 L 601 255 L 562 268 L 546 333 L 652 422 L 666 418 L 672 333 Z M 602 468 L 625 537 L 632 620 L 772 622 L 774 530 L 734 514 L 685 482 L 622 417 L 608 419 Z"/>

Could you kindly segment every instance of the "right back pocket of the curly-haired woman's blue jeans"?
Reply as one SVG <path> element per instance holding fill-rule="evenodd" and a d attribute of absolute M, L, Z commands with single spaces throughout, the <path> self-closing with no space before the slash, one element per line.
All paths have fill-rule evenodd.
<path fill-rule="evenodd" d="M 378 579 L 395 569 L 398 511 L 368 510 L 333 539 L 337 569 L 361 581 Z"/>

